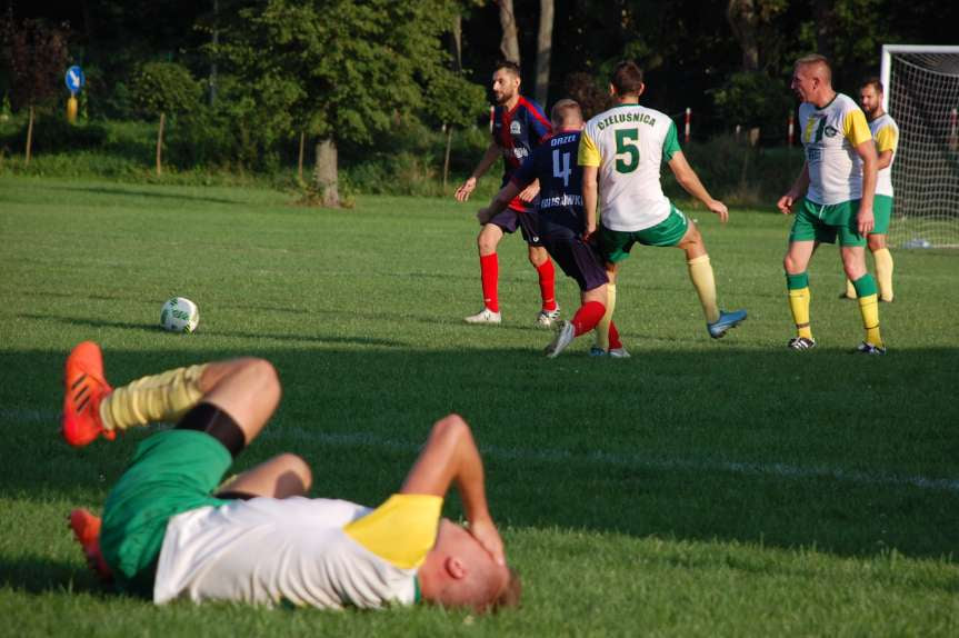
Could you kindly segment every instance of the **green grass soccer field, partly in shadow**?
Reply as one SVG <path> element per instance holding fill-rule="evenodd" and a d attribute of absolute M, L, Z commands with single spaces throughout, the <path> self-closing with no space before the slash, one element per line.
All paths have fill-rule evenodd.
<path fill-rule="evenodd" d="M 861 340 L 836 250 L 811 270 L 820 347 L 798 353 L 781 256 L 787 219 L 698 217 L 726 308 L 707 336 L 678 251 L 626 263 L 617 321 L 631 359 L 556 360 L 539 292 L 502 243 L 501 327 L 480 308 L 476 206 L 359 198 L 291 206 L 266 190 L 0 178 L 0 618 L 9 636 L 959 635 L 959 255 L 895 252 L 889 353 Z M 558 282 L 565 315 L 577 306 Z M 156 325 L 173 295 L 200 330 Z M 284 397 L 239 459 L 294 450 L 316 496 L 376 505 L 429 426 L 473 426 L 525 604 L 493 617 L 156 608 L 102 592 L 64 516 L 99 509 L 138 441 L 58 435 L 66 352 L 94 339 L 108 376 L 237 355 L 277 366 Z M 456 498 L 447 514 L 459 516 Z"/>

